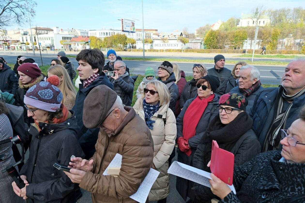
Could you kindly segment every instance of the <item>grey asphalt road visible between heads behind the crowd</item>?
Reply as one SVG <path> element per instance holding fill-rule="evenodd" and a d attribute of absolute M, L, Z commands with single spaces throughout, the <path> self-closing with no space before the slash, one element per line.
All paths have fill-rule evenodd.
<path fill-rule="evenodd" d="M 2 55 L 5 61 L 8 63 L 16 63 L 17 55 Z M 38 65 L 41 65 L 40 56 L 26 56 L 27 58 L 33 58 Z M 49 65 L 51 60 L 56 58 L 54 56 L 42 56 L 43 65 Z M 70 58 L 70 61 L 74 64 L 75 67 L 78 66 L 75 58 Z M 173 58 L 174 61 L 174 58 Z M 106 60 L 108 62 L 108 60 Z M 141 74 L 144 75 L 145 69 L 150 66 L 157 72 L 158 65 L 160 65 L 159 61 L 128 61 L 124 60 L 127 67 L 130 69 L 132 74 Z M 198 60 L 200 62 L 200 60 Z M 186 63 L 186 62 L 178 62 L 180 69 L 184 70 L 186 75 L 192 75 L 192 67 L 194 63 Z M 205 63 L 206 67 L 212 68 L 214 64 Z M 233 64 L 226 64 L 225 67 L 230 70 L 233 69 Z M 284 66 L 274 66 L 274 65 L 256 65 L 256 67 L 260 70 L 260 81 L 263 84 L 280 84 L 281 77 L 284 73 Z"/>

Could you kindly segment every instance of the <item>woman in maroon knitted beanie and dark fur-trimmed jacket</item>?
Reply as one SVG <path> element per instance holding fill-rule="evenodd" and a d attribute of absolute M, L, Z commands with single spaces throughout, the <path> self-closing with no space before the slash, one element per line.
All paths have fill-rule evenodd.
<path fill-rule="evenodd" d="M 16 106 L 23 107 L 23 117 L 24 122 L 30 126 L 34 120 L 27 116 L 27 110 L 24 107 L 23 99 L 24 95 L 27 93 L 27 90 L 37 84 L 38 82 L 43 81 L 44 76 L 41 74 L 40 68 L 37 65 L 32 63 L 24 63 L 17 68 L 19 77 L 19 88 L 16 92 Z"/>

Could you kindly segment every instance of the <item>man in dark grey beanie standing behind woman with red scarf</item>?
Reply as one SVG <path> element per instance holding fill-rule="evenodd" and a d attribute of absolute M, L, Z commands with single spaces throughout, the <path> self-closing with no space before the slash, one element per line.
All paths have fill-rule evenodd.
<path fill-rule="evenodd" d="M 224 79 L 230 77 L 231 71 L 228 68 L 224 67 L 225 58 L 221 54 L 218 54 L 214 57 L 214 63 L 214 68 L 210 68 L 208 70 L 208 74 L 216 76 L 219 79 L 221 86 L 222 82 L 224 82 Z M 218 93 L 218 88 L 216 90 L 216 93 Z"/>

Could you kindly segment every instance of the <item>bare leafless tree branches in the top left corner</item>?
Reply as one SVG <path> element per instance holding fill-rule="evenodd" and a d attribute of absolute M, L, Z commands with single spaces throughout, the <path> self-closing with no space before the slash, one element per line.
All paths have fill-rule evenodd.
<path fill-rule="evenodd" d="M 37 3 L 33 0 L 1 0 L 0 1 L 0 27 L 13 24 L 22 25 L 27 21 L 28 12 L 35 16 L 34 7 Z"/>

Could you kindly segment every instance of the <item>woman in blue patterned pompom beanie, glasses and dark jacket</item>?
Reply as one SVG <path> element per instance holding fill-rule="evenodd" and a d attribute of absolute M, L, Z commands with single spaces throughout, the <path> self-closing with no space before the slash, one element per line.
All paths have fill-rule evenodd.
<path fill-rule="evenodd" d="M 53 167 L 54 163 L 69 165 L 71 156 L 84 158 L 76 138 L 77 123 L 62 99 L 61 91 L 50 82 L 38 82 L 24 96 L 27 115 L 34 119 L 29 128 L 29 159 L 20 170 L 26 187 L 12 185 L 18 196 L 34 202 L 76 202 L 77 185 Z"/>

